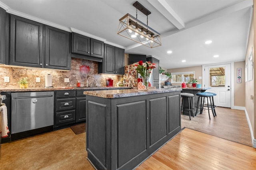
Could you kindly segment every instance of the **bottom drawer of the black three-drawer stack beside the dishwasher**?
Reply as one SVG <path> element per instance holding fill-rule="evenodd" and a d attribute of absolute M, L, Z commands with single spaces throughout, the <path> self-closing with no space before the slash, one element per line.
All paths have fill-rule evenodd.
<path fill-rule="evenodd" d="M 76 110 L 61 111 L 56 113 L 56 125 L 62 123 L 72 123 L 76 120 Z"/>

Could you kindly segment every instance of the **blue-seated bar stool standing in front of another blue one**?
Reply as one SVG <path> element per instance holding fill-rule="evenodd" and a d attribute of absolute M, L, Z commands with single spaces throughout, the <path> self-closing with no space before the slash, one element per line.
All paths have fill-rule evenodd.
<path fill-rule="evenodd" d="M 203 110 L 204 110 L 204 99 L 207 98 L 207 109 L 208 109 L 208 115 L 209 115 L 209 119 L 211 119 L 210 117 L 210 111 L 209 110 L 212 110 L 212 114 L 213 114 L 213 117 L 215 117 L 215 114 L 214 114 L 214 107 L 212 106 L 212 100 L 211 98 L 214 96 L 213 94 L 210 94 L 210 93 L 205 93 L 205 92 L 202 92 L 202 93 L 197 93 L 196 96 L 198 96 L 198 99 L 197 99 L 197 106 L 196 106 L 196 114 L 197 114 L 197 110 L 198 108 L 200 108 L 200 114 L 202 114 Z M 209 106 L 209 99 L 210 99 L 210 106 Z M 199 105 L 199 101 L 201 100 L 201 104 Z M 199 107 L 200 106 L 200 107 Z"/>

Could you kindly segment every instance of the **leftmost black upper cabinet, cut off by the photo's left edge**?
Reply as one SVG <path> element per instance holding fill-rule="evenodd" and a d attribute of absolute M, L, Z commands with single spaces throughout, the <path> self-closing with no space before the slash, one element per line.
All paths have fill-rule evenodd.
<path fill-rule="evenodd" d="M 0 8 L 0 63 L 6 64 L 6 11 Z"/>

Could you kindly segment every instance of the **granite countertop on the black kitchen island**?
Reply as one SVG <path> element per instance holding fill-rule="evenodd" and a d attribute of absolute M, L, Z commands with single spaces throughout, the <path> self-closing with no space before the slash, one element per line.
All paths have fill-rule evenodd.
<path fill-rule="evenodd" d="M 132 96 L 141 96 L 147 94 L 159 94 L 167 92 L 177 92 L 182 91 L 182 88 L 171 88 L 171 89 L 161 89 L 161 90 L 145 90 L 138 91 L 134 89 L 123 89 L 123 90 L 98 90 L 98 91 L 84 91 L 85 95 L 96 96 L 100 98 L 124 98 Z"/>

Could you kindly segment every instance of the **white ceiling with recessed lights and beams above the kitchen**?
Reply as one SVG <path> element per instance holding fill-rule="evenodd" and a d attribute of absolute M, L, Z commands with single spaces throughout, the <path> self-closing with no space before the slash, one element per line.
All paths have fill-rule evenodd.
<path fill-rule="evenodd" d="M 151 12 L 148 26 L 161 34 L 162 46 L 153 49 L 117 34 L 122 16 L 136 17 L 135 1 L 0 0 L 0 6 L 11 14 L 123 47 L 125 53 L 153 55 L 164 68 L 244 61 L 253 0 L 138 0 Z M 140 11 L 138 20 L 146 23 Z M 206 40 L 212 43 L 206 45 Z"/>

